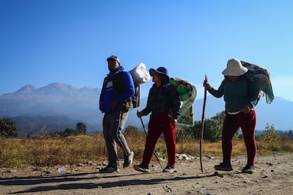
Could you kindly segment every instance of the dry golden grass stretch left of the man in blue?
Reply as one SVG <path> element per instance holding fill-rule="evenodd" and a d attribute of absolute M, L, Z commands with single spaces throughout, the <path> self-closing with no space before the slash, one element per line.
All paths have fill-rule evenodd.
<path fill-rule="evenodd" d="M 0 167 L 51 166 L 105 158 L 102 136 L 1 138 Z"/>

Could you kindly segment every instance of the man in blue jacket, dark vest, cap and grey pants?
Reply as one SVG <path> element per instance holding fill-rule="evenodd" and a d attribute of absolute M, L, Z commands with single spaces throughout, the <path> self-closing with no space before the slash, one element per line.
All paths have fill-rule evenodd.
<path fill-rule="evenodd" d="M 122 134 L 129 109 L 132 108 L 131 97 L 134 95 L 134 83 L 129 72 L 120 66 L 118 57 L 107 59 L 110 73 L 104 78 L 100 93 L 100 111 L 103 117 L 103 135 L 108 152 L 108 165 L 100 172 L 117 172 L 117 144 L 124 153 L 123 167 L 132 164 L 134 153 L 128 147 Z"/>

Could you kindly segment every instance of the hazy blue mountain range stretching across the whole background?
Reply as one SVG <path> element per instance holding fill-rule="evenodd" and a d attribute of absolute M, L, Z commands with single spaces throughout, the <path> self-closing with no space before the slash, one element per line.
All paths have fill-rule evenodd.
<path fill-rule="evenodd" d="M 19 129 L 28 129 L 35 126 L 35 131 L 46 131 L 46 126 L 59 124 L 59 129 L 75 128 L 77 122 L 84 122 L 87 131 L 102 131 L 103 114 L 98 110 L 100 88 L 76 88 L 63 83 L 51 83 L 42 88 L 25 85 L 16 92 L 0 95 L 0 117 L 10 117 L 16 120 Z M 202 116 L 203 99 L 196 99 L 194 103 L 195 120 Z M 142 110 L 146 105 L 146 98 L 141 99 Z M 207 96 L 205 118 L 213 117 L 224 110 L 224 100 Z M 275 98 L 271 105 L 262 98 L 256 107 L 257 130 L 264 130 L 266 124 L 274 124 L 275 129 L 287 131 L 293 129 L 292 123 L 293 102 L 282 98 Z M 142 127 L 136 117 L 137 109 L 130 112 L 127 125 Z M 47 120 L 46 124 L 40 124 Z M 149 116 L 143 117 L 145 126 Z M 50 124 L 48 124 L 50 123 Z M 61 129 L 60 129 L 61 128 Z M 25 134 L 24 132 L 22 132 Z M 28 131 L 26 131 L 28 133 Z"/>

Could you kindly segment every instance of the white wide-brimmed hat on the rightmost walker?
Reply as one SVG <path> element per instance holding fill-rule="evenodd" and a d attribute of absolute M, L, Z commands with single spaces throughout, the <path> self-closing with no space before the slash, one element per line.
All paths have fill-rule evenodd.
<path fill-rule="evenodd" d="M 224 76 L 241 76 L 246 73 L 248 69 L 242 66 L 241 61 L 239 59 L 229 59 L 227 62 L 227 67 L 222 71 Z"/>

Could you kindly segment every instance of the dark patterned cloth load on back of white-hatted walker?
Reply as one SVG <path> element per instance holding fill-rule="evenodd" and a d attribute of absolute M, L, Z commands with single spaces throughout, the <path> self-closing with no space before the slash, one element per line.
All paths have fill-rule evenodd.
<path fill-rule="evenodd" d="M 274 93 L 272 92 L 272 83 L 270 82 L 270 72 L 262 66 L 241 61 L 242 66 L 248 69 L 248 76 L 254 79 L 258 90 L 265 93 L 265 100 L 268 104 L 275 99 Z"/>

